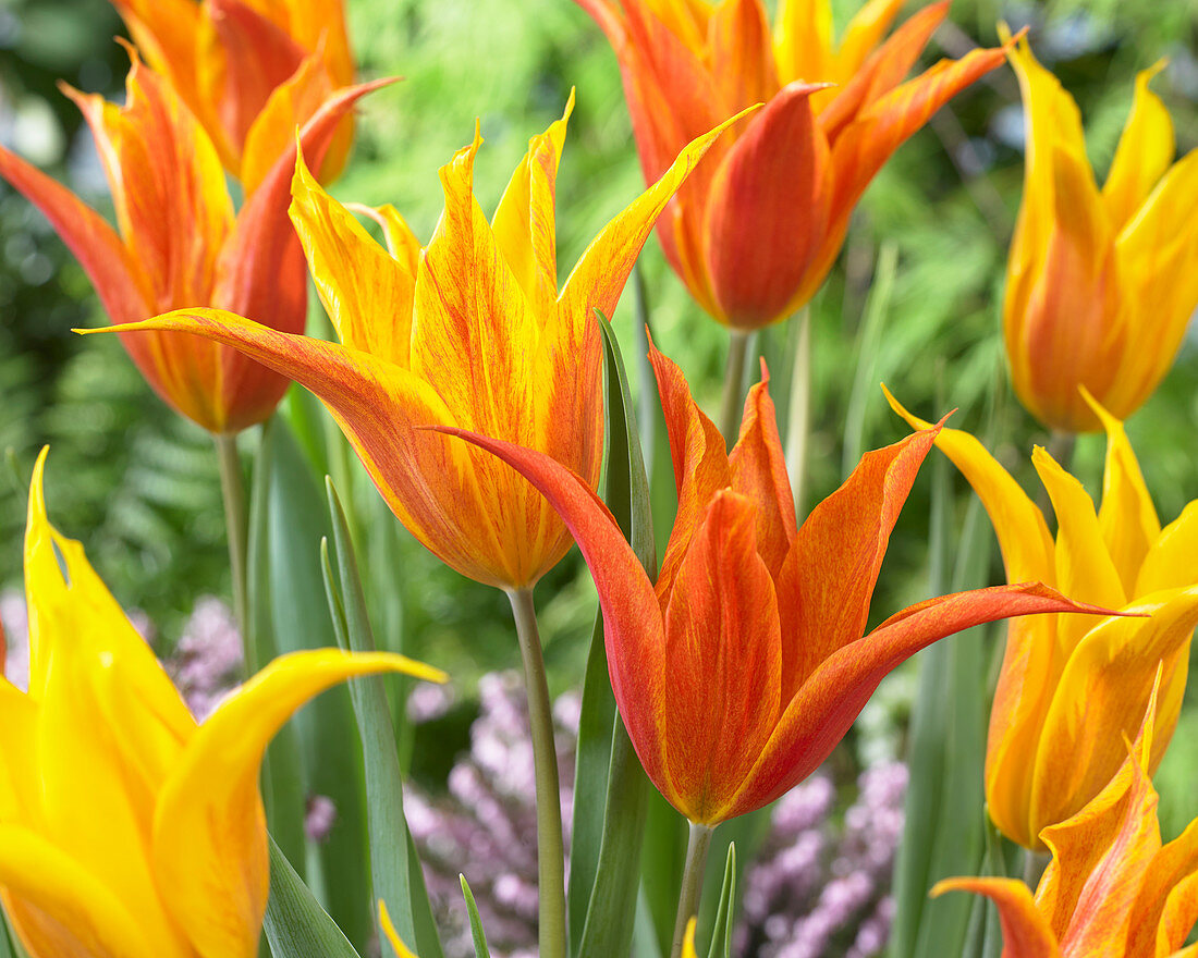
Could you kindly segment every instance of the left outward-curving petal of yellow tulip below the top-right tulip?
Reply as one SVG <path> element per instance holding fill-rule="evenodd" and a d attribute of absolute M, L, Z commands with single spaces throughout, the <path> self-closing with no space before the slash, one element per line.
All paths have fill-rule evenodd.
<path fill-rule="evenodd" d="M 931 429 L 926 419 L 909 413 L 882 387 L 887 401 L 912 429 Z M 946 455 L 986 507 L 998 545 L 1003 551 L 1009 582 L 1039 581 L 1055 584 L 1055 559 L 1052 535 L 1039 507 L 997 459 L 976 438 L 960 429 L 942 429 L 936 448 Z"/>

